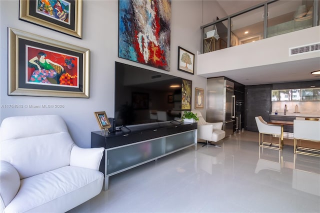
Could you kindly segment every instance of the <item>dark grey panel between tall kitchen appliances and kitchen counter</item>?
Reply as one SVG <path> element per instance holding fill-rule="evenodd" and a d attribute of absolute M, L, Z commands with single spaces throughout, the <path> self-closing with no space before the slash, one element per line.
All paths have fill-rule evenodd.
<path fill-rule="evenodd" d="M 245 86 L 245 129 L 258 131 L 255 116 L 269 121 L 272 84 Z"/>

